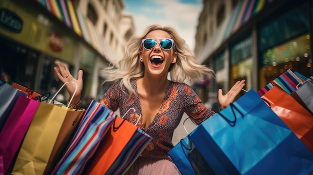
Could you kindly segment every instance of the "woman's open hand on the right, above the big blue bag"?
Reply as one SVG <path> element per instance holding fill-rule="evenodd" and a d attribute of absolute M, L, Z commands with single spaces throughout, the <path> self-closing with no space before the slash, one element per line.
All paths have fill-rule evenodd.
<path fill-rule="evenodd" d="M 230 103 L 233 103 L 235 97 L 245 85 L 244 82 L 245 80 L 237 81 L 225 95 L 223 95 L 221 89 L 218 89 L 218 102 L 221 109 L 226 108 Z"/>

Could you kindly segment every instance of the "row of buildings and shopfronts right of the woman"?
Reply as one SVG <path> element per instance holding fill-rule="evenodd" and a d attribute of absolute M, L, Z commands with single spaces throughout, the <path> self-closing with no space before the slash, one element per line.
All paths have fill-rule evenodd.
<path fill-rule="evenodd" d="M 215 78 L 197 88 L 202 100 L 241 79 L 257 91 L 287 69 L 311 76 L 312 9 L 311 0 L 203 0 L 194 52 Z"/>

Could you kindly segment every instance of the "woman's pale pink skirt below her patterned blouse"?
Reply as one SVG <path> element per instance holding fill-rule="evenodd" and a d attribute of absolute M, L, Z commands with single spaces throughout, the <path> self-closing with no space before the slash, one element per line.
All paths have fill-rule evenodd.
<path fill-rule="evenodd" d="M 165 160 L 138 157 L 125 175 L 180 175 L 175 164 Z"/>

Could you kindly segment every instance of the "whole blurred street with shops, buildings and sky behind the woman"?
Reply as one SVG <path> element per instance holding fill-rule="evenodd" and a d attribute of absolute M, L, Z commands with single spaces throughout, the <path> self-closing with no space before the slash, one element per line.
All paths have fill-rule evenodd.
<path fill-rule="evenodd" d="M 197 61 L 215 71 L 191 84 L 208 107 L 217 89 L 237 80 L 259 90 L 287 69 L 312 76 L 312 0 L 1 0 L 1 80 L 53 94 L 61 86 L 53 71 L 59 60 L 74 77 L 84 71 L 86 105 L 110 86 L 100 70 L 154 23 L 174 27 Z M 66 102 L 61 94 L 57 100 Z M 191 132 L 195 126 L 186 123 Z M 180 125 L 173 144 L 185 135 Z"/>

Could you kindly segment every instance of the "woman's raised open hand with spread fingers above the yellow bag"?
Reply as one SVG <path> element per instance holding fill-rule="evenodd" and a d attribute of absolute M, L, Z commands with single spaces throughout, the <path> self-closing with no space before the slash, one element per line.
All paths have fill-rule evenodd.
<path fill-rule="evenodd" d="M 74 94 L 75 88 L 76 86 L 73 83 L 67 83 L 65 85 L 66 90 L 69 94 L 69 98 L 72 97 L 72 95 L 74 94 L 73 100 L 71 101 L 71 104 L 78 104 L 79 100 L 80 100 L 80 95 L 81 95 L 81 91 L 82 91 L 82 70 L 78 71 L 78 79 L 75 79 L 69 72 L 66 64 L 62 65 L 60 62 L 56 61 L 55 62 L 56 67 L 54 67 L 54 71 L 58 77 L 58 79 L 62 82 L 62 83 L 66 83 L 66 82 L 75 82 L 77 84 L 77 91 Z"/>

